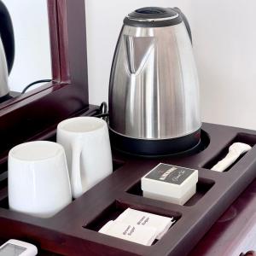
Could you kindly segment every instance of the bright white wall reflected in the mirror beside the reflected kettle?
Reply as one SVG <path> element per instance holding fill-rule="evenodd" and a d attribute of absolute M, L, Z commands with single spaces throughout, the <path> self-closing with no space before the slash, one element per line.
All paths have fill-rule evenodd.
<path fill-rule="evenodd" d="M 0 0 L 1 20 L 4 16 L 2 10 L 4 9 L 4 5 L 1 6 L 1 1 L 6 9 L 8 9 L 13 24 L 15 38 L 15 57 L 12 69 L 10 68 L 11 65 L 9 63 L 11 61 L 9 59 L 11 58 L 10 55 L 12 49 L 7 49 L 3 42 L 9 71 L 9 90 L 12 91 L 11 96 L 18 96 L 24 90 L 29 91 L 45 84 L 45 81 L 50 80 L 52 77 L 47 1 Z M 6 25 L 8 19 L 5 19 L 5 21 L 5 25 L 3 22 L 0 24 L 2 41 L 4 41 L 4 37 L 8 38 L 6 35 L 10 33 L 9 27 L 2 28 L 2 26 L 8 26 Z M 11 45 L 11 39 L 8 38 L 7 41 L 9 41 L 9 45 Z M 3 60 L 0 60 L 0 62 L 1 61 Z M 2 76 L 1 70 L 0 75 Z M 44 83 L 32 84 L 33 82 L 42 79 L 44 80 Z M 26 88 L 28 84 L 32 84 L 32 86 Z M 0 85 L 2 86 L 3 84 L 1 83 Z"/>

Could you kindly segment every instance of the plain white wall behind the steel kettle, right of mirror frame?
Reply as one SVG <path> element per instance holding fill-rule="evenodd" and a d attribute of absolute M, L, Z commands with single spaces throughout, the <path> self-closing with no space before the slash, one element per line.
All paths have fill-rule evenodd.
<path fill-rule="evenodd" d="M 108 101 L 123 18 L 150 5 L 177 6 L 189 19 L 203 121 L 256 129 L 255 0 L 86 0 L 90 102 Z"/>

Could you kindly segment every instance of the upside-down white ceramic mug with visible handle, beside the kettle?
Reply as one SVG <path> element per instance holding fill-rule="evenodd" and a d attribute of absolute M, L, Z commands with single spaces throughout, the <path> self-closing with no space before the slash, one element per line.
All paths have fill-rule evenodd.
<path fill-rule="evenodd" d="M 66 119 L 57 127 L 57 142 L 65 148 L 74 198 L 113 172 L 108 125 L 103 119 Z"/>

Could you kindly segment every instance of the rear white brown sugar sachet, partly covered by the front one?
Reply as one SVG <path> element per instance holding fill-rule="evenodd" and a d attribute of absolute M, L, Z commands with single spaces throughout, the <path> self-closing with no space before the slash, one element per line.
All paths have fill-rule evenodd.
<path fill-rule="evenodd" d="M 156 239 L 158 240 L 166 234 L 175 222 L 173 218 L 137 211 L 131 208 L 127 208 L 125 212 L 121 213 L 119 217 L 116 218 L 116 220 L 137 226 L 153 227 L 157 230 Z"/>

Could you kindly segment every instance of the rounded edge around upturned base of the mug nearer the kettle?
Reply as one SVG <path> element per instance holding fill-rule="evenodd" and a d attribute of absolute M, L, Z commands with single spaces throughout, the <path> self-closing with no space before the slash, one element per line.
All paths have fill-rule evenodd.
<path fill-rule="evenodd" d="M 72 123 L 73 121 L 84 120 L 84 119 L 94 119 L 94 120 L 96 120 L 97 123 L 102 124 L 102 126 L 97 127 L 96 129 L 90 130 L 90 131 L 70 131 L 70 130 L 64 129 L 64 127 L 63 127 L 64 125 L 67 125 L 68 123 Z M 102 128 L 104 128 L 104 126 L 106 126 L 106 125 L 107 125 L 107 122 L 103 119 L 96 118 L 94 116 L 79 116 L 79 117 L 74 117 L 74 118 L 65 119 L 65 120 L 61 121 L 57 125 L 57 131 L 59 130 L 59 131 L 67 132 L 67 133 L 73 133 L 73 134 L 85 134 L 85 133 L 87 134 L 87 133 L 92 133 L 95 131 L 102 130 Z"/>

